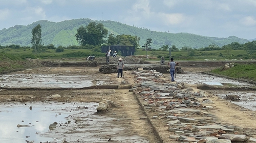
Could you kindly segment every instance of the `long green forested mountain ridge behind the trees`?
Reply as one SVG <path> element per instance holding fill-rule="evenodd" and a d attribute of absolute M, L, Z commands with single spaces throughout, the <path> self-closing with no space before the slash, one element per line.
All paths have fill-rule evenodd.
<path fill-rule="evenodd" d="M 75 34 L 79 26 L 86 26 L 90 22 L 102 23 L 109 34 L 113 33 L 116 35 L 132 35 L 140 37 L 140 45 L 144 45 L 146 39 L 151 38 L 153 44 L 152 48 L 160 48 L 163 45 L 175 45 L 177 48 L 184 46 L 191 48 L 206 47 L 212 43 L 219 46 L 227 45 L 232 42 L 239 42 L 240 44 L 248 42 L 246 39 L 241 39 L 235 36 L 228 38 L 217 38 L 217 37 L 206 37 L 189 33 L 167 33 L 167 32 L 156 32 L 150 31 L 147 28 L 130 26 L 115 21 L 97 21 L 86 19 L 73 19 L 65 20 L 61 22 L 50 22 L 47 20 L 40 20 L 33 22 L 27 26 L 15 25 L 10 28 L 4 28 L 0 31 L 0 45 L 20 45 L 20 46 L 31 46 L 32 29 L 37 25 L 41 25 L 42 30 L 42 42 L 44 45 L 53 44 L 55 46 L 69 46 L 78 45 Z"/>

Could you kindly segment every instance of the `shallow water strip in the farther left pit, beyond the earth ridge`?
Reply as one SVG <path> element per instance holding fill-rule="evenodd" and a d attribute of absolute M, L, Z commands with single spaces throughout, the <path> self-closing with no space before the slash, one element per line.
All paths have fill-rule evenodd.
<path fill-rule="evenodd" d="M 97 80 L 94 76 L 86 75 L 57 75 L 57 74 L 15 74 L 2 75 L 1 87 L 10 88 L 83 88 L 101 85 L 106 79 Z"/>

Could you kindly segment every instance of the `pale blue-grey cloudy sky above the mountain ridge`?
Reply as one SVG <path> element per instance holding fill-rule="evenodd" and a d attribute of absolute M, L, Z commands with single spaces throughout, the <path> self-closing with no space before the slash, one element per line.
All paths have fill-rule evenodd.
<path fill-rule="evenodd" d="M 256 38 L 256 0 L 0 0 L 0 30 L 79 18 L 160 32 Z"/>

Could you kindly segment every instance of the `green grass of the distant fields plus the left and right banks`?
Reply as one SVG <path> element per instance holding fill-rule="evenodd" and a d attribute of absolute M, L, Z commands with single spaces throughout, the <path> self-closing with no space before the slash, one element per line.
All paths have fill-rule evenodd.
<path fill-rule="evenodd" d="M 137 49 L 136 55 L 146 55 L 146 51 Z M 165 57 L 165 60 L 169 60 L 168 51 L 148 51 L 147 54 L 155 59 L 160 60 L 161 56 Z M 194 56 L 190 56 L 188 51 L 173 51 L 172 57 L 176 61 L 179 60 L 232 60 L 232 59 L 244 59 L 247 57 L 247 52 L 244 50 L 214 50 L 214 51 L 196 51 Z M 93 52 L 91 49 L 65 49 L 63 52 L 56 52 L 55 49 L 46 49 L 41 53 L 32 53 L 31 48 L 0 49 L 0 72 L 9 71 L 12 69 L 23 68 L 24 65 L 20 64 L 20 61 L 25 61 L 27 58 L 31 59 L 60 59 L 60 58 L 86 58 L 89 55 L 105 56 L 105 53 Z M 5 63 L 9 63 L 9 65 Z M 234 67 L 221 71 L 215 69 L 212 73 L 225 75 L 233 78 L 244 78 L 256 81 L 256 65 L 235 65 Z"/>

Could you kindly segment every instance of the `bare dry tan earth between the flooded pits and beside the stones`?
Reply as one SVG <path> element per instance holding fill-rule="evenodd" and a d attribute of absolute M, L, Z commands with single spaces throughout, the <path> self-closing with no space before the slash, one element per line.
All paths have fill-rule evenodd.
<path fill-rule="evenodd" d="M 93 75 L 95 79 L 103 79 L 106 76 L 109 78 L 105 81 L 106 84 L 121 84 L 122 81 L 126 81 L 129 84 L 134 84 L 136 80 L 131 71 L 125 71 L 125 78 L 117 78 L 116 74 L 102 74 L 98 72 L 99 68 L 37 68 L 32 70 L 25 70 L 15 72 L 22 74 L 68 74 L 68 75 Z M 199 72 L 205 70 L 205 68 L 185 68 L 184 71 Z M 67 72 L 69 71 L 69 72 Z M 12 73 L 14 74 L 14 73 Z M 168 74 L 163 77 L 165 80 L 169 80 Z M 198 89 L 196 85 L 191 85 L 194 92 Z M 52 95 L 59 94 L 60 98 L 51 98 Z M 206 92 L 207 95 L 211 95 L 209 99 L 214 102 L 211 106 L 214 109 L 209 112 L 217 116 L 219 121 L 223 124 L 231 124 L 234 126 L 248 128 L 249 130 L 256 129 L 255 111 L 237 106 L 227 100 L 220 99 L 216 95 Z M 120 132 L 121 135 L 134 136 L 138 135 L 145 138 L 145 142 L 160 142 L 154 134 L 150 123 L 147 120 L 141 120 L 140 117 L 145 116 L 141 109 L 135 95 L 129 92 L 129 89 L 90 89 L 90 90 L 15 90 L 15 89 L 2 89 L 0 92 L 1 103 L 14 103 L 14 102 L 36 102 L 36 101 L 58 101 L 58 102 L 100 102 L 102 99 L 112 100 L 121 105 L 119 108 L 113 108 L 110 112 L 104 113 L 105 116 L 122 119 L 114 120 L 113 123 L 120 125 L 124 128 L 124 131 Z M 167 127 L 164 123 L 159 123 L 155 128 L 159 131 L 158 134 L 165 136 L 168 140 L 170 132 L 167 131 Z M 113 140 L 118 135 L 113 135 Z M 256 137 L 255 135 L 253 135 Z M 107 138 L 109 136 L 106 136 Z"/>

